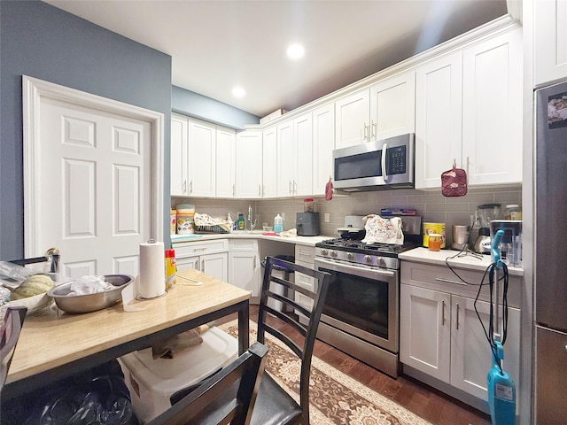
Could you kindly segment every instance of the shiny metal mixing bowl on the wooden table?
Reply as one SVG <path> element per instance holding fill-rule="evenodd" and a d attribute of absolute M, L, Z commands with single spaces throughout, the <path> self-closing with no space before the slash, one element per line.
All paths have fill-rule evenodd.
<path fill-rule="evenodd" d="M 105 274 L 105 281 L 115 288 L 94 294 L 67 295 L 73 282 L 67 282 L 52 288 L 47 295 L 55 300 L 55 304 L 67 313 L 90 313 L 116 304 L 122 298 L 122 290 L 134 278 L 128 274 Z"/>

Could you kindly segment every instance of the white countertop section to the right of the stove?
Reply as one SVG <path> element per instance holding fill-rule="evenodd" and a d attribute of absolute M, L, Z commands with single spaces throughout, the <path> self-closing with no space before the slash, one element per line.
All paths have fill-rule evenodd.
<path fill-rule="evenodd" d="M 437 266 L 446 266 L 446 259 L 452 267 L 468 268 L 472 270 L 485 271 L 490 266 L 490 255 L 470 253 L 461 257 L 454 257 L 459 251 L 441 250 L 429 251 L 427 248 L 416 248 L 414 250 L 402 252 L 399 257 L 404 261 L 414 261 L 417 263 L 433 264 Z M 481 256 L 479 259 L 478 256 Z M 524 269 L 519 267 L 508 267 L 508 273 L 518 276 L 524 275 Z"/>

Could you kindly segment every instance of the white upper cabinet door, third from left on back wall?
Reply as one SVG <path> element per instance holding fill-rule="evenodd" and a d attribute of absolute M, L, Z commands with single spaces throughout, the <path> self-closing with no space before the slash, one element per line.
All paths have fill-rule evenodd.
<path fill-rule="evenodd" d="M 235 143 L 234 130 L 216 130 L 216 196 L 234 197 L 235 193 Z"/>

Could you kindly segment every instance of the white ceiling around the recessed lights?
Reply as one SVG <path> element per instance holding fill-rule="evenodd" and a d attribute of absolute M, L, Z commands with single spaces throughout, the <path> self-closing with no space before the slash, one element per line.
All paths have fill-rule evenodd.
<path fill-rule="evenodd" d="M 44 1 L 167 53 L 175 86 L 260 117 L 507 13 L 506 0 Z M 291 42 L 306 48 L 300 61 L 285 56 Z"/>

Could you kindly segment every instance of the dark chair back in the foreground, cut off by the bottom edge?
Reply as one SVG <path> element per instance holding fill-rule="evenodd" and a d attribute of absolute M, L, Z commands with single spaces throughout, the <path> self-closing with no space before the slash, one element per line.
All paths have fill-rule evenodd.
<path fill-rule="evenodd" d="M 220 372 L 148 425 L 247 425 L 252 416 L 268 348 L 254 343 Z"/>

